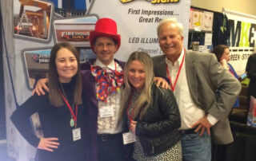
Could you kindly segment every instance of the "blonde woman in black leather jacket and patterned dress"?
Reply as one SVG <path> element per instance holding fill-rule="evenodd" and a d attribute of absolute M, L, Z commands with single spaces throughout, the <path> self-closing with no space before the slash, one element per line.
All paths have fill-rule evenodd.
<path fill-rule="evenodd" d="M 121 119 L 125 117 L 134 143 L 133 159 L 182 160 L 181 125 L 173 92 L 154 84 L 153 62 L 144 52 L 130 55 L 124 69 Z"/>

